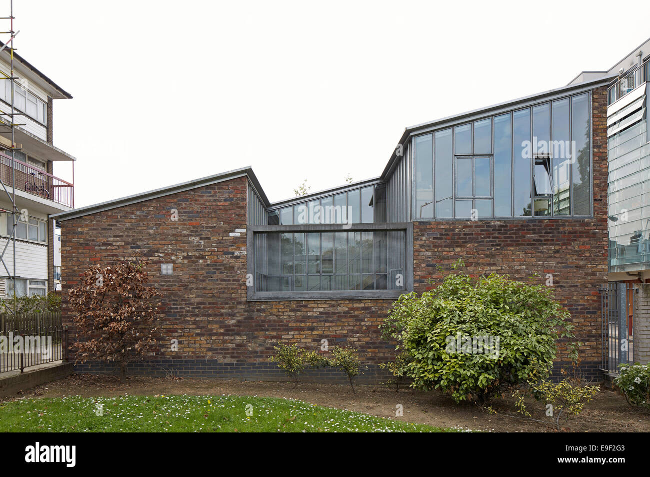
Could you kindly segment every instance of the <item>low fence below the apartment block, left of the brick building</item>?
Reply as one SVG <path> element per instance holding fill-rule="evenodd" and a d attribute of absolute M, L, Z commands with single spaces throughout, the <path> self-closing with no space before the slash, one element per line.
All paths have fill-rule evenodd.
<path fill-rule="evenodd" d="M 68 330 L 59 313 L 0 314 L 0 374 L 68 360 Z"/>

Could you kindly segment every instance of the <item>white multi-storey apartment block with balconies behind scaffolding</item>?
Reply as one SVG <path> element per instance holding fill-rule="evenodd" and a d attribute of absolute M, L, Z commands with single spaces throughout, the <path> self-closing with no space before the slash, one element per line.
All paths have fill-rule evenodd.
<path fill-rule="evenodd" d="M 6 189 L 0 188 L 0 250 L 6 247 L 4 265 L 0 263 L 0 296 L 54 290 L 55 223 L 49 216 L 74 206 L 73 179 L 53 174 L 54 163 L 75 160 L 53 144 L 54 100 L 72 96 L 15 51 L 13 63 L 13 85 L 0 79 L 0 180 Z M 0 71 L 3 77 L 10 75 L 8 49 L 0 52 Z M 12 90 L 16 113 L 13 144 L 8 126 Z M 19 211 L 15 215 L 15 252 L 10 239 L 14 195 Z"/>

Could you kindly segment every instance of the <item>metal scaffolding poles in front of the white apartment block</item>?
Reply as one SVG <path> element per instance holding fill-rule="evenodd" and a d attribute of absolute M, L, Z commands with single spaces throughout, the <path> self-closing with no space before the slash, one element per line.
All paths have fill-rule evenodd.
<path fill-rule="evenodd" d="M 24 124 L 17 124 L 16 123 L 16 116 L 19 116 L 19 113 L 16 113 L 16 109 L 14 108 L 14 87 L 16 85 L 16 80 L 19 79 L 16 77 L 14 74 L 14 38 L 16 38 L 16 35 L 19 33 L 19 31 L 14 31 L 14 0 L 9 0 L 9 16 L 6 17 L 0 17 L 0 20 L 2 21 L 8 21 L 9 23 L 9 29 L 8 31 L 0 31 L 1 35 L 8 34 L 9 38 L 6 42 L 3 42 L 2 46 L 0 47 L 0 53 L 2 51 L 7 50 L 9 52 L 9 74 L 5 74 L 5 72 L 2 72 L 0 70 L 0 79 L 3 79 L 2 83 L 5 83 L 7 80 L 10 81 L 11 85 L 11 103 L 10 103 L 10 113 L 4 113 L 0 112 L 0 131 L 2 133 L 9 133 L 10 135 L 10 149 L 11 149 L 11 157 L 10 157 L 10 171 L 11 171 L 11 184 L 10 188 L 11 191 L 7 189 L 9 184 L 5 184 L 5 180 L 3 180 L 3 177 L 0 176 L 0 185 L 2 187 L 2 191 L 0 191 L 0 195 L 4 197 L 8 197 L 9 201 L 11 202 L 11 210 L 4 210 L 0 209 L 0 213 L 5 213 L 7 216 L 7 219 L 11 217 L 11 233 L 8 234 L 8 238 L 6 239 L 6 243 L 2 250 L 0 251 L 0 263 L 4 267 L 6 274 L 8 275 L 8 278 L 12 282 L 13 286 L 13 298 L 14 298 L 14 306 L 13 308 L 13 313 L 14 316 L 16 315 L 16 226 L 18 225 L 18 220 L 23 220 L 27 221 L 27 217 L 23 217 L 25 215 L 24 212 L 26 211 L 20 211 L 18 210 L 18 207 L 16 206 L 16 138 L 14 136 L 14 128 L 16 126 L 24 126 Z M 6 84 L 6 83 L 5 83 Z M 3 84 L 3 87 L 5 87 L 5 84 Z M 7 227 L 8 228 L 8 227 Z M 11 253 L 7 250 L 9 243 L 12 243 L 11 247 Z M 8 256 L 9 255 L 9 256 Z M 6 261 L 7 259 L 10 258 L 10 266 L 12 267 L 12 271 L 9 271 L 9 268 L 7 267 Z M 6 290 L 5 290 L 6 294 Z"/>

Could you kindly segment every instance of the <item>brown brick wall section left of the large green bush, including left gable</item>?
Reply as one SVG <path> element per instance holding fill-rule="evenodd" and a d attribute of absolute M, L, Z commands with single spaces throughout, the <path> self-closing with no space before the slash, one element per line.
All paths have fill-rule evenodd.
<path fill-rule="evenodd" d="M 70 325 L 67 292 L 88 266 L 144 256 L 151 284 L 164 294 L 161 352 L 133 372 L 278 379 L 268 362 L 279 340 L 317 349 L 349 344 L 365 355 L 365 379 L 393 347 L 379 340 L 378 323 L 391 300 L 246 301 L 246 178 L 237 178 L 62 223 L 64 323 Z M 178 211 L 172 221 L 171 210 Z M 161 275 L 161 264 L 174 275 Z M 178 351 L 170 350 L 171 340 Z M 101 366 L 79 370 L 106 371 Z M 318 371 L 318 377 L 328 371 Z M 329 371 L 335 377 L 340 372 Z"/>

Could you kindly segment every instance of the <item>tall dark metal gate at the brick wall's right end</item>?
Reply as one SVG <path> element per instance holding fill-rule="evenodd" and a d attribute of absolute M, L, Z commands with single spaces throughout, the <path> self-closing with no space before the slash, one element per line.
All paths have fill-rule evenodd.
<path fill-rule="evenodd" d="M 603 370 L 618 372 L 619 364 L 634 362 L 632 323 L 638 290 L 631 282 L 610 282 L 601 293 L 601 351 Z"/>

